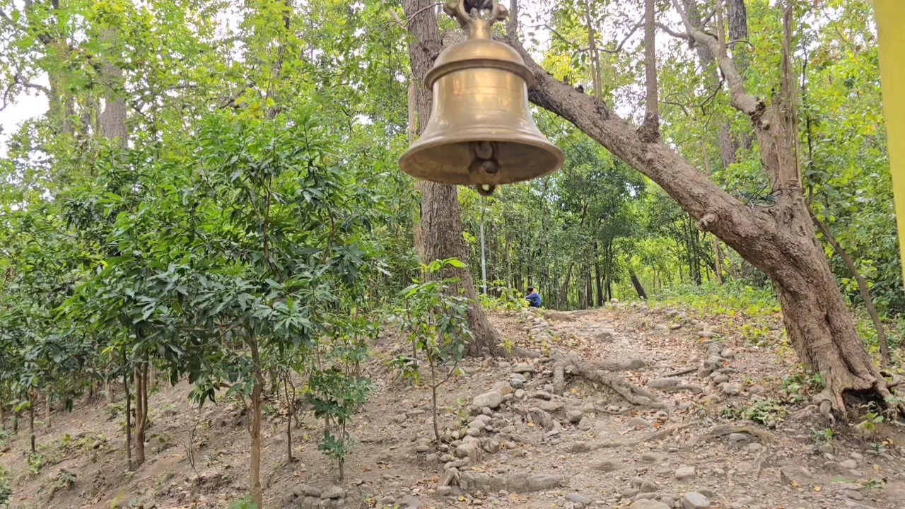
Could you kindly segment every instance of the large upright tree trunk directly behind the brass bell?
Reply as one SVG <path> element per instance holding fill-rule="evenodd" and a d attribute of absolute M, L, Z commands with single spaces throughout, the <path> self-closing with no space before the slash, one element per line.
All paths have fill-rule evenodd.
<path fill-rule="evenodd" d="M 430 0 L 404 0 L 405 16 L 409 20 L 409 31 L 414 36 L 409 44 L 408 53 L 412 65 L 412 75 L 418 81 L 418 90 L 414 94 L 418 112 L 418 133 L 424 131 L 431 115 L 433 95 L 421 83 L 433 65 L 442 48 L 440 30 L 433 2 Z M 415 15 L 417 14 L 417 15 Z M 468 249 L 462 237 L 462 211 L 459 207 L 459 195 L 455 186 L 421 182 L 421 238 L 419 254 L 424 262 L 436 259 L 458 258 L 468 261 Z M 485 352 L 499 350 L 500 333 L 487 320 L 487 315 L 478 303 L 478 294 L 474 290 L 472 273 L 466 269 L 452 270 L 460 278 L 459 287 L 472 302 L 468 320 L 474 334 L 474 341 L 468 347 L 469 355 L 481 355 Z"/>

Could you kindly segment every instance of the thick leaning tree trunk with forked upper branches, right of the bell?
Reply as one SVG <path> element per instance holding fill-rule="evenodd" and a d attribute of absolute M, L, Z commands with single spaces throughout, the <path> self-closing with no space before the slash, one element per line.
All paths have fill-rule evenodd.
<path fill-rule="evenodd" d="M 817 396 L 824 415 L 830 415 L 830 408 L 844 412 L 843 394 L 847 392 L 871 391 L 887 398 L 890 390 L 862 346 L 805 206 L 796 157 L 794 102 L 783 103 L 791 97 L 793 88 L 788 60 L 783 62 L 782 97 L 768 104 L 745 90 L 725 44 L 693 26 L 678 0 L 673 0 L 673 5 L 680 9 L 685 32 L 670 29 L 671 34 L 707 46 L 726 77 L 732 106 L 751 120 L 761 162 L 777 197 L 776 206 L 746 206 L 662 141 L 643 139 L 635 126 L 614 114 L 603 101 L 554 79 L 510 29 L 508 42 L 535 78 L 530 101 L 570 121 L 651 178 L 697 220 L 700 229 L 719 236 L 770 277 L 795 351 L 826 383 L 824 392 Z M 786 11 L 786 26 L 790 12 Z M 786 41 L 789 38 L 786 33 Z M 905 412 L 905 405 L 899 405 L 899 409 Z"/>

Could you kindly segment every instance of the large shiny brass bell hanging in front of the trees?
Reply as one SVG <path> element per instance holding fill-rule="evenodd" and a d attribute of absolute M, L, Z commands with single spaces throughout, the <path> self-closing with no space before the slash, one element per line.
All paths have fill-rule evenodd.
<path fill-rule="evenodd" d="M 443 50 L 424 77 L 433 89 L 431 117 L 399 159 L 400 168 L 414 178 L 474 186 L 484 195 L 555 172 L 566 155 L 531 119 L 534 76 L 518 52 L 491 38 L 492 21 L 457 17 L 469 29 L 468 39 Z"/>

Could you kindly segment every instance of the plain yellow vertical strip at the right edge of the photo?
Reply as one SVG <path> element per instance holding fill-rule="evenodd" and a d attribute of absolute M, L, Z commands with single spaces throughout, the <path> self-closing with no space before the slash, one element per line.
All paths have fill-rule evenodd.
<path fill-rule="evenodd" d="M 883 112 L 905 278 L 905 0 L 873 0 L 873 10 L 880 36 Z"/>

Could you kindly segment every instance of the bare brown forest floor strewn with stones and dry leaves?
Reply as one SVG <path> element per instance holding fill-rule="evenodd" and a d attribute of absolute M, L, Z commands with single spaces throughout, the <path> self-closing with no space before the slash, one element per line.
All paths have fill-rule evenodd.
<path fill-rule="evenodd" d="M 356 415 L 344 480 L 310 411 L 291 430 L 293 463 L 285 418 L 267 412 L 265 507 L 905 508 L 905 433 L 864 412 L 830 429 L 778 316 L 615 303 L 491 319 L 544 357 L 462 363 L 440 389 L 442 447 L 430 390 L 386 368 L 408 351 L 392 333 L 366 368 L 376 393 Z M 25 422 L 0 443 L 11 507 L 226 509 L 248 493 L 248 416 L 235 403 L 192 408 L 188 391 L 151 396 L 135 472 L 121 402 L 39 422 L 37 475 Z"/>

